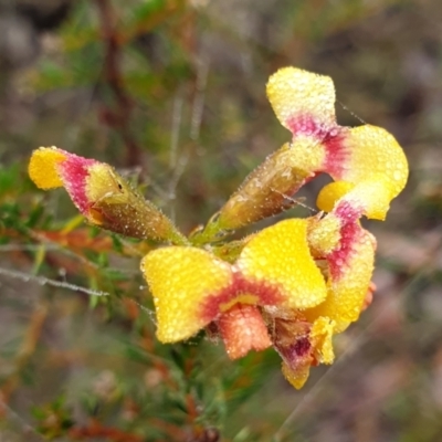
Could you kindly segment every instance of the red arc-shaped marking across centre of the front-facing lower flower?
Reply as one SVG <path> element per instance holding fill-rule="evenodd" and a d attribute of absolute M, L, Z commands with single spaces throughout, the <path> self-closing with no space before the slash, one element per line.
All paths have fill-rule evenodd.
<path fill-rule="evenodd" d="M 201 306 L 201 317 L 210 322 L 220 314 L 220 305 L 232 302 L 240 295 L 257 297 L 256 305 L 278 305 L 284 301 L 277 286 L 265 281 L 245 280 L 241 273 L 233 273 L 232 283 L 209 295 Z"/>

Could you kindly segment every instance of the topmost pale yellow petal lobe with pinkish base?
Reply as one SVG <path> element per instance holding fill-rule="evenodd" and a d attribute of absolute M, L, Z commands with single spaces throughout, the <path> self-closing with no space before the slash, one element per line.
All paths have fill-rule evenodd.
<path fill-rule="evenodd" d="M 267 97 L 281 124 L 294 135 L 336 124 L 335 87 L 328 76 L 284 67 L 269 78 Z M 305 123 L 305 124 L 304 124 Z"/>

